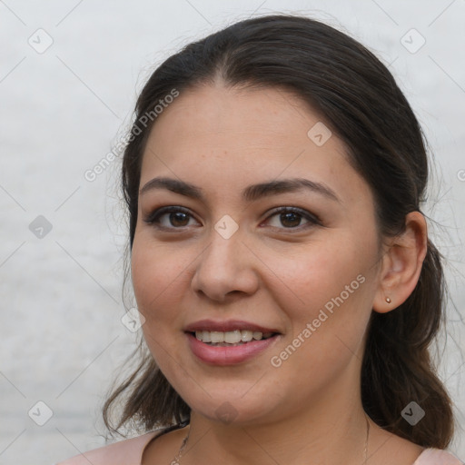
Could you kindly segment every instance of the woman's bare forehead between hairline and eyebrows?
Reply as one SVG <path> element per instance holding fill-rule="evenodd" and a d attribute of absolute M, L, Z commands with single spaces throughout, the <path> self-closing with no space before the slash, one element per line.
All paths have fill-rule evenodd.
<path fill-rule="evenodd" d="M 143 154 L 141 186 L 170 175 L 214 194 L 280 177 L 331 185 L 349 201 L 371 197 L 341 140 L 296 95 L 278 88 L 204 85 L 159 115 Z M 212 193 L 213 194 L 213 193 Z"/>

